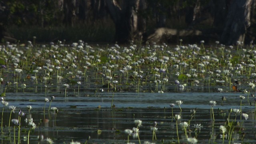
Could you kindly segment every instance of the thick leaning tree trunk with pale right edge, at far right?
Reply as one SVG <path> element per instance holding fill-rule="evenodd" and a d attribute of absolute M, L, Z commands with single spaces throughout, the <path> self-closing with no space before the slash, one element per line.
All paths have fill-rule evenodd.
<path fill-rule="evenodd" d="M 228 10 L 225 27 L 220 41 L 232 45 L 244 42 L 246 29 L 250 26 L 250 8 L 252 0 L 233 0 Z"/>

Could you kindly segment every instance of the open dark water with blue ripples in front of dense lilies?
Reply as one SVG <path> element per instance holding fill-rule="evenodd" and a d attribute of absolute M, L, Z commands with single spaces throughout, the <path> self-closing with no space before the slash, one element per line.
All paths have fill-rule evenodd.
<path fill-rule="evenodd" d="M 59 109 L 59 112 L 49 112 L 49 103 L 46 103 L 46 119 L 44 119 L 44 90 L 39 94 L 26 93 L 12 93 L 12 96 L 6 97 L 6 100 L 11 105 L 16 106 L 16 109 L 21 109 L 26 112 L 26 116 L 22 117 L 21 140 L 27 136 L 28 124 L 25 118 L 33 118 L 35 124 L 38 126 L 30 133 L 30 142 L 37 141 L 37 136 L 42 134 L 44 138 L 52 138 L 55 143 L 70 142 L 71 140 L 85 142 L 90 136 L 89 142 L 96 143 L 123 143 L 127 140 L 127 135 L 124 130 L 135 127 L 134 120 L 142 120 L 140 127 L 141 141 L 152 140 L 152 131 L 150 127 L 153 122 L 158 122 L 156 137 L 157 141 L 165 140 L 165 142 L 172 142 L 177 140 L 176 135 L 176 121 L 172 119 L 172 112 L 169 106 L 170 103 L 175 103 L 176 100 L 182 100 L 182 113 L 180 108 L 174 106 L 174 114 L 182 116 L 179 122 L 188 122 L 191 119 L 188 130 L 189 137 L 196 137 L 200 143 L 219 143 L 222 142 L 220 138 L 220 125 L 226 124 L 230 108 L 240 108 L 239 93 L 205 93 L 205 92 L 191 92 L 191 93 L 130 93 L 130 92 L 116 92 L 114 94 L 115 108 L 111 109 L 112 92 L 102 92 L 100 96 L 94 96 L 93 92 L 80 91 L 81 96 L 63 97 L 62 94 L 53 93 L 55 99 L 52 105 Z M 221 104 L 222 96 L 226 97 L 226 101 Z M 33 100 L 33 101 L 31 101 Z M 215 122 L 211 120 L 210 114 L 210 100 L 216 100 L 217 105 L 214 106 Z M 252 98 L 249 98 L 252 101 Z M 234 130 L 232 138 L 234 142 L 256 142 L 255 134 L 252 131 L 255 128 L 255 114 L 254 104 L 250 106 L 247 100 L 242 101 L 243 112 L 249 114 L 248 120 L 240 120 L 240 115 L 237 116 L 237 121 L 242 123 L 242 133 L 239 128 Z M 26 109 L 27 105 L 32 106 L 30 114 Z M 98 106 L 101 108 L 97 108 Z M 191 118 L 191 109 L 197 108 L 196 114 Z M 218 110 L 218 108 L 220 110 Z M 4 122 L 9 121 L 10 110 L 4 110 Z M 18 112 L 12 115 L 12 118 L 18 119 Z M 234 120 L 234 113 L 230 114 L 230 121 Z M 200 124 L 202 127 L 194 125 Z M 13 125 L 10 128 L 10 137 L 13 140 Z M 101 130 L 101 132 L 98 132 Z M 181 142 L 186 142 L 184 130 L 178 128 Z M 9 128 L 4 128 L 2 134 L 2 142 L 9 142 L 8 137 Z M 17 135 L 17 134 L 16 134 Z M 138 143 L 138 138 L 130 136 L 131 142 Z M 224 138 L 225 142 L 228 139 Z"/>

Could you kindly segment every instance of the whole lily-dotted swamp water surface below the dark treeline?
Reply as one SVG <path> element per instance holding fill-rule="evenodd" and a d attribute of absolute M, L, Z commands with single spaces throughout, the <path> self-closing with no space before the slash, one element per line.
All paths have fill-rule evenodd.
<path fill-rule="evenodd" d="M 256 67 L 244 65 L 238 74 L 235 67 L 240 60 L 252 63 L 249 61 L 252 56 L 243 57 L 242 54 L 246 52 L 242 48 L 236 54 L 236 50 L 228 48 L 230 52 L 224 51 L 225 48 L 221 49 L 223 51 L 212 52 L 211 48 L 204 50 L 194 46 L 177 52 L 168 46 L 163 46 L 164 50 L 161 51 L 158 50 L 161 46 L 152 46 L 145 52 L 135 52 L 133 48 L 128 48 L 132 54 L 129 54 L 129 50 L 128 53 L 118 54 L 114 51 L 125 48 L 79 46 L 80 44 L 59 45 L 59 48 L 28 48 L 23 53 L 17 52 L 18 48 L 6 49 L 14 56 L 6 54 L 2 48 L 1 54 L 7 59 L 5 62 L 0 60 L 7 67 L 1 69 L 3 99 L 9 102 L 8 106 L 16 106 L 11 119 L 18 119 L 19 110 L 25 112 L 20 117 L 20 143 L 28 143 L 30 126 L 25 122 L 26 118 L 33 118 L 36 124 L 29 136 L 29 142 L 33 144 L 49 143 L 50 140 L 47 141 L 46 138 L 54 143 L 78 141 L 87 144 L 125 144 L 128 134 L 124 130 L 136 127 L 134 120 L 142 121 L 139 135 L 132 132 L 129 136 L 129 142 L 136 144 L 139 143 L 138 137 L 141 143 L 147 141 L 157 144 L 189 143 L 187 137 L 196 138 L 198 143 L 256 142 L 255 99 L 251 96 L 255 90 L 248 85 L 249 82 L 255 82 L 253 73 L 256 72 Z M 168 52 L 164 53 L 165 51 Z M 195 51 L 198 55 L 192 56 Z M 235 59 L 225 60 L 222 56 L 226 56 L 226 53 L 233 54 Z M 17 54 L 26 56 L 26 59 L 17 57 Z M 114 59 L 110 54 L 124 59 Z M 170 59 L 164 58 L 162 62 L 163 56 Z M 16 62 L 15 58 L 20 60 Z M 145 62 L 141 58 L 145 58 Z M 210 63 L 206 64 L 208 61 Z M 252 61 L 255 59 L 252 58 Z M 205 66 L 200 65 L 204 62 Z M 229 68 L 230 64 L 234 69 Z M 132 66 L 129 67 L 130 65 Z M 56 68 L 57 66 L 60 68 Z M 22 72 L 17 68 L 22 69 Z M 119 70 L 124 70 L 124 73 Z M 241 92 L 232 88 L 233 82 L 237 83 L 235 86 Z M 48 112 L 51 96 L 54 96 L 51 107 L 58 108 L 58 111 Z M 245 99 L 240 96 L 245 96 Z M 223 97 L 226 100 L 222 102 Z M 44 98 L 50 101 L 45 102 Z M 180 107 L 177 100 L 183 102 Z M 212 100 L 216 101 L 216 106 L 211 106 L 209 101 Z M 171 103 L 175 104 L 173 113 Z M 26 108 L 28 105 L 32 106 L 30 112 Z M 18 143 L 18 126 L 15 127 L 15 132 L 12 122 L 8 127 L 11 112 L 8 106 L 3 104 L 1 107 L 4 108 L 0 137 L 3 144 L 14 143 L 14 134 Z M 242 109 L 242 113 L 248 114 L 248 118 L 245 119 L 241 112 L 230 112 L 230 109 Z M 179 136 L 174 118 L 176 114 L 181 116 L 177 122 Z M 154 122 L 157 122 L 155 136 L 152 131 Z M 180 126 L 181 122 L 190 123 L 184 129 Z M 220 131 L 220 126 L 225 126 L 224 134 Z M 42 141 L 38 141 L 40 135 L 44 136 Z"/>

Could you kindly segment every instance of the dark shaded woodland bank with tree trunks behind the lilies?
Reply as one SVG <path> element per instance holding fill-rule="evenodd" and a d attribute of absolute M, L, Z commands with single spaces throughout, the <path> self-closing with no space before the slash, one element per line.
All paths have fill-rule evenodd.
<path fill-rule="evenodd" d="M 1 0 L 0 39 L 248 44 L 255 37 L 255 4 L 255 0 Z M 152 34 L 154 38 L 149 38 Z"/>

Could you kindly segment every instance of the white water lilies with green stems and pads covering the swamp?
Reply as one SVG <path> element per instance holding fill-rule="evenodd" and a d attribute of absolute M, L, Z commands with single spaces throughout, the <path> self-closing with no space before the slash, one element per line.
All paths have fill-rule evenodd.
<path fill-rule="evenodd" d="M 102 108 L 99 105 L 95 111 L 105 109 L 115 112 L 122 111 L 119 108 L 123 108 L 115 105 L 115 98 L 118 93 L 130 92 L 138 95 L 156 93 L 156 96 L 161 96 L 165 93 L 178 94 L 180 92 L 193 92 L 193 90 L 198 92 L 197 88 L 201 87 L 203 92 L 214 92 L 219 96 L 212 97 L 208 100 L 210 104 L 206 104 L 209 106 L 206 111 L 210 116 L 210 128 L 212 128 L 212 133 L 208 139 L 209 143 L 214 143 L 218 139 L 218 142 L 223 141 L 223 143 L 243 142 L 244 136 L 238 140 L 232 134 L 234 131 L 244 134 L 246 121 L 255 121 L 256 119 L 255 54 L 256 48 L 253 44 L 243 46 L 240 42 L 237 46 L 224 46 L 219 42 L 216 42 L 214 46 L 204 46 L 203 41 L 200 45 L 183 45 L 182 40 L 179 46 L 166 44 L 142 46 L 133 43 L 129 46 L 119 46 L 118 44 L 91 46 L 79 40 L 78 43 L 70 45 L 61 41 L 55 44 L 52 42 L 39 45 L 36 44 L 36 37 L 34 37 L 33 42 L 29 41 L 28 44 L 6 43 L 0 47 L 1 139 L 14 143 L 21 143 L 21 139 L 24 139 L 29 143 L 31 142 L 30 136 L 34 134 L 34 131 L 38 131 L 39 134 L 41 122 L 50 121 L 56 125 L 59 109 L 51 106 L 55 106 L 54 103 L 58 98 L 67 100 L 65 102 L 69 103 L 68 98 L 71 97 L 78 99 L 85 96 L 99 98 L 102 95 L 107 95 L 109 106 Z M 38 89 L 44 95 L 40 110 L 38 110 L 39 113 L 42 113 L 41 120 L 37 120 L 38 124 L 33 122 L 31 113 L 33 113 L 34 108 L 32 109 L 30 105 L 14 106 L 10 102 L 12 106 L 8 110 L 8 99 L 13 92 L 29 95 L 30 93 L 40 93 Z M 218 101 L 221 101 L 221 106 L 225 106 L 225 101 L 228 101 L 228 98 L 224 97 L 224 93 L 240 94 L 233 99 L 238 105 L 236 108 L 232 106 L 230 109 L 217 111 L 215 107 L 220 105 Z M 245 102 L 246 96 L 247 102 Z M 29 100 L 29 102 L 33 101 L 32 99 Z M 134 121 L 136 127 L 116 130 L 116 133 L 123 132 L 122 139 L 127 140 L 128 143 L 131 141 L 146 144 L 165 143 L 164 138 L 169 143 L 188 142 L 194 144 L 200 140 L 206 142 L 205 136 L 200 138 L 200 128 L 203 126 L 196 123 L 196 112 L 200 109 L 195 108 L 187 112 L 183 106 L 189 102 L 186 102 L 182 97 L 172 102 L 170 101 L 171 109 L 168 109 L 168 116 L 166 116 L 167 111 L 164 107 L 164 116 L 160 119 L 166 120 L 166 123 L 171 123 L 173 126 L 172 130 L 176 136 L 172 139 L 168 139 L 168 136 L 166 138 L 162 136 L 162 140 L 158 138 L 158 133 L 163 130 L 161 124 L 164 122 L 156 122 L 158 121 L 157 118 L 150 123 L 149 128 L 153 133 L 148 132 L 149 137 L 140 132 L 141 129 L 145 128 L 142 120 L 137 120 L 140 118 L 135 120 L 134 117 L 130 117 L 133 120 L 127 121 Z M 175 108 L 174 102 L 177 108 Z M 48 113 L 45 110 L 46 105 L 48 106 Z M 253 108 L 246 109 L 242 107 L 244 105 L 252 105 Z M 28 114 L 24 113 L 22 108 L 26 108 Z M 74 103 L 70 108 L 76 108 L 76 104 Z M 178 113 L 174 114 L 174 108 L 175 112 Z M 15 109 L 20 109 L 17 115 L 14 112 Z M 8 116 L 4 117 L 4 113 Z M 220 120 L 220 115 L 225 116 L 226 113 L 228 117 L 225 120 Z M 218 117 L 216 117 L 217 114 Z M 253 114 L 254 118 L 250 119 L 248 114 L 250 116 Z M 29 117 L 24 118 L 25 115 Z M 52 115 L 54 118 L 51 119 Z M 237 119 L 237 116 L 240 116 L 240 119 Z M 11 125 L 10 121 L 12 121 Z M 26 121 L 26 124 L 23 121 Z M 220 122 L 221 125 L 215 124 L 215 121 Z M 194 128 L 192 128 L 192 124 L 194 124 Z M 220 132 L 214 134 L 214 128 L 217 127 Z M 97 130 L 97 133 L 101 134 L 102 130 Z M 135 139 L 130 140 L 129 136 L 133 136 Z M 35 139 L 33 138 L 34 141 L 36 141 Z M 72 142 L 70 143 L 80 143 L 73 142 L 71 139 Z M 53 143 L 54 137 L 44 138 L 39 134 L 38 140 L 39 142 L 45 140 L 48 143 Z M 93 140 L 88 136 L 86 140 L 81 141 L 90 143 Z"/>

